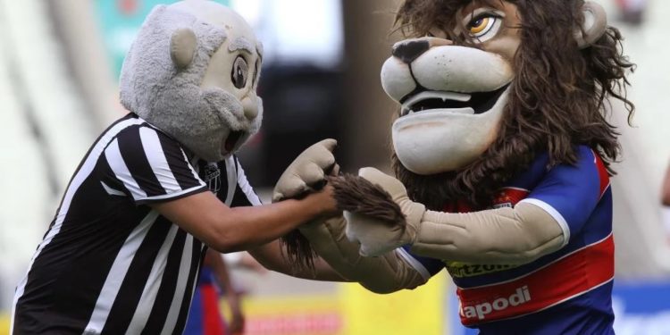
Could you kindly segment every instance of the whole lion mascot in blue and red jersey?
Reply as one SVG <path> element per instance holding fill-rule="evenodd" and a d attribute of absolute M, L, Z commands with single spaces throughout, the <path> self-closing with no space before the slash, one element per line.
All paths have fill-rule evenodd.
<path fill-rule="evenodd" d="M 581 0 L 406 0 L 397 20 L 415 38 L 381 69 L 400 105 L 396 176 L 331 178 L 343 215 L 302 235 L 375 292 L 446 267 L 482 334 L 612 333 L 618 144 L 604 102 L 633 110 L 618 30 Z M 298 157 L 275 198 L 309 188 L 315 153 L 329 152 Z"/>

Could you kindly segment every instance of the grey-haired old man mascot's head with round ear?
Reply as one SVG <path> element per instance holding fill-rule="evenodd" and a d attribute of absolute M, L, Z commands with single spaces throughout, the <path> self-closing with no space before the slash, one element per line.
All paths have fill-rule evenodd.
<path fill-rule="evenodd" d="M 205 0 L 158 5 L 121 70 L 121 104 L 209 162 L 261 125 L 262 46 L 237 13 Z"/>

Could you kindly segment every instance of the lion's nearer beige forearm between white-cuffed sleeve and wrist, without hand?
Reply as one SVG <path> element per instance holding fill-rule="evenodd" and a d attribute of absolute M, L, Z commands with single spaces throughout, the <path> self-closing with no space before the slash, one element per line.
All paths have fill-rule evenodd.
<path fill-rule="evenodd" d="M 526 264 L 564 243 L 553 216 L 537 205 L 520 203 L 467 214 L 426 211 L 411 250 L 459 262 Z"/>

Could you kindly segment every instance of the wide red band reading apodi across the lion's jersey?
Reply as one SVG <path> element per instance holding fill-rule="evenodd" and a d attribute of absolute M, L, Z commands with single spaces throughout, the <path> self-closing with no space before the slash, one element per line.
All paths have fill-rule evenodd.
<path fill-rule="evenodd" d="M 466 326 L 540 312 L 611 281 L 614 239 L 610 234 L 513 281 L 456 289 Z"/>

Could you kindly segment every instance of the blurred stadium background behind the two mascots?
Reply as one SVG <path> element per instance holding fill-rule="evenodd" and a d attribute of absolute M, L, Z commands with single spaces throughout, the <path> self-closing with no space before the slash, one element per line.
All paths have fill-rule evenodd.
<path fill-rule="evenodd" d="M 98 132 L 125 113 L 117 78 L 139 25 L 161 0 L 0 0 L 0 335 L 13 288 L 51 221 L 71 172 Z M 219 0 L 241 13 L 264 42 L 261 132 L 240 159 L 267 197 L 293 157 L 315 141 L 339 139 L 345 171 L 389 169 L 394 106 L 379 82 L 398 0 Z M 670 163 L 670 2 L 648 4 L 642 21 L 599 0 L 624 32 L 638 64 L 629 96 L 616 197 L 616 331 L 670 334 L 670 214 L 660 205 Z M 641 1 L 633 1 L 641 3 Z M 628 22 L 617 21 L 620 18 Z M 664 219 L 665 215 L 665 219 Z M 447 275 L 414 291 L 376 296 L 355 284 L 301 281 L 245 270 L 227 258 L 246 292 L 247 334 L 465 334 Z"/>

